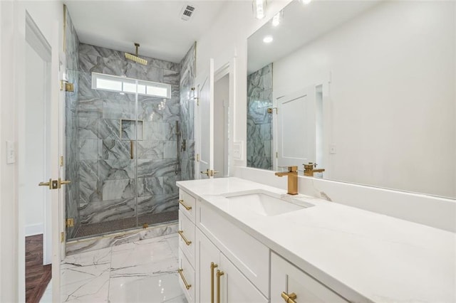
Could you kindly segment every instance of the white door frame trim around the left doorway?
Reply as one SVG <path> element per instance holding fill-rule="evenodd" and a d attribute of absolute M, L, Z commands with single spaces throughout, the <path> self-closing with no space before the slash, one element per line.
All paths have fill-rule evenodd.
<path fill-rule="evenodd" d="M 45 98 L 45 107 L 48 108 L 48 119 L 50 122 L 46 124 L 48 131 L 46 131 L 46 139 L 48 140 L 48 147 L 50 150 L 46 151 L 48 156 L 46 159 L 46 171 L 48 176 L 46 178 L 56 180 L 59 178 L 59 167 L 58 167 L 58 157 L 59 149 L 58 144 L 60 141 L 59 137 L 59 107 L 62 102 L 61 96 L 59 95 L 59 51 L 58 47 L 60 45 L 61 36 L 60 36 L 60 23 L 58 20 L 53 22 L 53 31 L 51 33 L 51 41 L 43 35 L 39 26 L 33 21 L 33 17 L 28 14 L 26 9 L 19 9 L 16 11 L 15 23 L 18 29 L 16 37 L 14 38 L 14 46 L 16 48 L 17 58 L 21 58 L 17 61 L 18 66 L 16 70 L 18 73 L 15 75 L 15 81 L 18 83 L 15 85 L 14 90 L 16 92 L 16 117 L 17 117 L 17 138 L 18 138 L 18 154 L 22 153 L 21 149 L 24 148 L 24 144 L 21 144 L 21 140 L 24 140 L 25 128 L 24 128 L 24 117 L 25 117 L 25 92 L 24 92 L 24 83 L 25 83 L 25 50 L 26 43 L 28 39 L 32 38 L 33 43 L 41 52 L 48 53 L 49 75 L 48 75 L 48 95 Z M 26 35 L 28 34 L 28 35 Z M 30 43 L 29 43 L 30 44 Z M 32 44 L 30 44 L 33 49 Z M 38 52 L 37 52 L 38 53 Z M 23 142 L 24 143 L 24 142 Z M 18 164 L 18 181 L 21 177 L 20 169 Z M 45 180 L 43 180 L 45 181 Z M 33 185 L 33 184 L 31 184 Z M 38 186 L 38 184 L 36 184 Z M 61 209 L 61 201 L 59 200 L 59 191 L 58 190 L 49 190 L 43 187 L 43 191 L 48 191 L 50 196 L 50 205 L 46 205 L 45 216 L 43 218 L 43 224 L 45 225 L 44 231 L 46 231 L 46 238 L 51 239 L 51 245 L 47 250 L 51 250 L 49 254 L 51 255 L 52 263 L 52 291 L 53 291 L 53 302 L 60 301 L 60 238 L 61 238 L 61 228 L 60 225 L 63 224 L 59 218 L 59 211 Z M 19 182 L 16 184 L 16 191 L 19 193 Z M 24 203 L 18 199 L 17 206 L 17 236 L 18 236 L 18 267 L 17 267 L 17 296 L 19 302 L 25 302 L 25 228 L 24 228 Z M 24 257 L 23 257 L 24 256 Z"/>

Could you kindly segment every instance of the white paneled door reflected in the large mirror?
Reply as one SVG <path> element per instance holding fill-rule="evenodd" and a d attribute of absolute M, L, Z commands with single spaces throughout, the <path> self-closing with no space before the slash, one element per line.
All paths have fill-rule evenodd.
<path fill-rule="evenodd" d="M 277 99 L 277 165 L 298 166 L 316 161 L 315 86 Z"/>

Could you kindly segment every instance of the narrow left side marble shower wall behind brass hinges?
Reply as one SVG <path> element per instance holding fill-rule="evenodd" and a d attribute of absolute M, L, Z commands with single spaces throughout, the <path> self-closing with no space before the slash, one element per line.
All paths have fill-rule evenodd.
<path fill-rule="evenodd" d="M 65 179 L 71 180 L 71 184 L 64 186 L 66 201 L 66 216 L 74 218 L 74 227 L 67 228 L 67 238 L 73 238 L 73 234 L 79 225 L 78 197 L 79 197 L 79 154 L 78 154 L 78 90 L 79 90 L 79 39 L 75 31 L 69 11 L 66 11 L 66 77 L 69 83 L 73 83 L 74 92 L 65 92 Z"/>

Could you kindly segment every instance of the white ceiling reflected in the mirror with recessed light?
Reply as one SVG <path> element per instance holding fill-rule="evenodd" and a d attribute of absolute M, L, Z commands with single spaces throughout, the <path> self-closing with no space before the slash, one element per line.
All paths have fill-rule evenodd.
<path fill-rule="evenodd" d="M 248 73 L 283 58 L 306 43 L 333 30 L 337 26 L 363 14 L 381 0 L 321 0 L 304 5 L 295 0 L 284 8 L 279 26 L 264 24 L 248 40 Z M 264 36 L 273 36 L 266 44 Z"/>

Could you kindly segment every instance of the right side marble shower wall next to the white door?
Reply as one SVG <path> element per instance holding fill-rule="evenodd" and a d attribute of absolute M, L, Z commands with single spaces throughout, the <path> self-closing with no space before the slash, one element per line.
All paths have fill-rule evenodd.
<path fill-rule="evenodd" d="M 195 101 L 192 99 L 192 87 L 195 87 L 196 49 L 195 42 L 180 63 L 180 121 L 182 122 L 180 163 L 182 180 L 192 180 L 195 176 L 195 134 L 193 129 Z M 182 140 L 185 140 L 185 150 L 182 148 Z"/>

